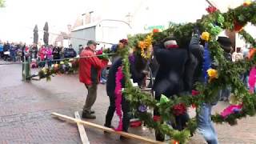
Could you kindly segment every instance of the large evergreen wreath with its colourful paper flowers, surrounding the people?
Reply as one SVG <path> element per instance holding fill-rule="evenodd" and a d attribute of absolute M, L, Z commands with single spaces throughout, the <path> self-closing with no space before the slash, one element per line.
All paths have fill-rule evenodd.
<path fill-rule="evenodd" d="M 242 27 L 247 22 L 251 22 L 256 25 L 256 2 L 246 2 L 242 6 L 238 6 L 234 10 L 229 10 L 227 13 L 221 14 L 216 8 L 209 7 L 207 11 L 208 15 L 202 17 L 199 22 L 202 26 L 202 30 L 205 32 L 202 34 L 202 39 L 206 41 L 206 58 L 212 58 L 212 60 L 218 63 L 216 69 L 212 69 L 207 61 L 204 63 L 205 76 L 208 79 L 205 83 L 198 83 L 196 91 L 193 94 L 186 97 L 176 97 L 174 99 L 166 98 L 162 95 L 160 101 L 156 101 L 150 94 L 142 92 L 138 87 L 134 87 L 130 82 L 130 64 L 129 64 L 129 49 L 123 49 L 123 68 L 122 72 L 126 79 L 126 86 L 123 90 L 123 94 L 130 102 L 130 106 L 133 108 L 134 113 L 138 115 L 138 118 L 142 120 L 146 126 L 159 130 L 162 134 L 169 135 L 173 142 L 186 143 L 190 138 L 190 134 L 193 134 L 197 129 L 196 118 L 191 118 L 187 122 L 187 127 L 182 130 L 174 130 L 167 123 L 174 115 L 181 114 L 186 107 L 193 106 L 196 108 L 197 114 L 200 111 L 200 106 L 203 102 L 213 102 L 216 99 L 216 93 L 218 90 L 231 86 L 232 93 L 234 94 L 232 99 L 236 104 L 228 106 L 221 114 L 212 115 L 212 120 L 217 123 L 227 122 L 231 126 L 237 124 L 237 119 L 244 118 L 247 115 L 253 116 L 256 114 L 256 95 L 250 94 L 244 84 L 240 81 L 239 75 L 250 70 L 256 63 L 256 57 L 252 57 L 249 60 L 242 60 L 238 62 L 228 62 L 223 57 L 223 50 L 216 41 L 218 34 L 223 30 L 235 30 L 243 36 L 246 42 L 256 46 L 254 38 L 250 36 Z M 138 47 L 141 50 L 141 54 L 145 50 L 150 50 L 150 43 L 146 42 L 159 42 L 163 38 L 174 34 L 178 37 L 178 42 L 187 40 L 188 36 L 192 34 L 193 27 L 196 24 L 188 23 L 185 25 L 171 26 L 169 29 L 162 32 L 158 32 L 154 35 L 144 34 L 135 35 L 130 37 L 128 48 L 133 49 Z M 175 35 L 176 34 L 176 35 Z M 152 37 L 152 41 L 150 39 Z M 144 50 L 144 51 L 143 51 Z M 149 58 L 149 56 L 142 54 L 143 58 Z M 184 107 L 186 106 L 186 107 Z M 163 123 L 155 122 L 152 114 L 148 112 L 150 108 L 158 108 Z M 174 113 L 174 110 L 178 110 L 178 113 Z"/>

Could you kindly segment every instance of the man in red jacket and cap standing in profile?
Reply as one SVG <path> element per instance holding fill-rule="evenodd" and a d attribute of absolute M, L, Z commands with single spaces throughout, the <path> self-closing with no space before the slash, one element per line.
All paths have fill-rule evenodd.
<path fill-rule="evenodd" d="M 102 68 L 104 68 L 108 60 L 99 59 L 96 54 L 97 43 L 90 40 L 87 42 L 86 49 L 82 50 L 79 60 L 79 80 L 84 83 L 88 94 L 86 97 L 85 106 L 83 106 L 82 118 L 96 118 L 94 111 L 91 111 L 91 106 L 94 105 L 97 97 L 97 86 Z M 88 58 L 82 58 L 88 57 Z"/>

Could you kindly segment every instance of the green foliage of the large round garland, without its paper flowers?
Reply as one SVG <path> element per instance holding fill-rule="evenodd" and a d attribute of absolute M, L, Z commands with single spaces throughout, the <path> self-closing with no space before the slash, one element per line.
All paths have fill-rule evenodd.
<path fill-rule="evenodd" d="M 170 138 L 180 142 L 186 143 L 190 138 L 190 134 L 194 133 L 197 128 L 196 118 L 191 118 L 187 123 L 185 130 L 178 131 L 173 130 L 166 122 L 174 118 L 174 114 L 171 111 L 171 107 L 180 103 L 185 104 L 187 107 L 195 105 L 197 106 L 197 114 L 200 110 L 200 106 L 203 102 L 213 102 L 216 100 L 218 90 L 225 88 L 226 86 L 232 87 L 232 93 L 235 97 L 242 101 L 242 110 L 239 113 L 230 114 L 226 118 L 223 118 L 220 114 L 212 115 L 212 120 L 217 123 L 227 122 L 230 125 L 237 123 L 237 119 L 244 118 L 247 115 L 253 116 L 256 113 L 256 95 L 249 94 L 246 87 L 240 81 L 240 74 L 250 70 L 256 62 L 256 57 L 252 60 L 243 60 L 239 62 L 228 62 L 223 56 L 223 50 L 216 41 L 217 35 L 222 29 L 234 30 L 234 22 L 240 23 L 245 26 L 247 22 L 256 23 L 256 3 L 252 2 L 250 6 L 239 6 L 234 10 L 229 10 L 225 14 L 221 14 L 219 11 L 213 14 L 204 15 L 198 23 L 188 23 L 186 25 L 175 25 L 169 29 L 162 31 L 161 33 L 154 34 L 154 42 L 162 42 L 162 39 L 174 35 L 178 39 L 178 45 L 188 46 L 190 42 L 190 35 L 194 26 L 200 26 L 202 31 L 210 33 L 209 49 L 214 63 L 217 64 L 218 78 L 214 78 L 206 85 L 202 83 L 197 84 L 197 90 L 200 94 L 197 96 L 183 96 L 170 99 L 168 102 L 157 102 L 150 94 L 142 92 L 140 89 L 133 87 L 130 82 L 130 64 L 128 61 L 129 49 L 122 51 L 123 58 L 123 73 L 126 78 L 126 86 L 123 94 L 126 99 L 130 101 L 130 106 L 133 108 L 135 114 L 138 115 L 146 126 L 155 130 L 160 130 L 162 134 L 167 134 Z M 217 25 L 216 25 L 217 23 Z M 240 33 L 246 42 L 250 42 L 255 45 L 254 39 L 246 31 L 242 30 Z M 145 38 L 145 35 L 137 35 L 129 38 L 128 48 L 133 48 L 138 45 L 138 41 Z M 148 106 L 150 108 L 158 108 L 162 123 L 154 122 L 152 114 L 148 112 L 141 112 L 138 110 L 139 106 Z"/>

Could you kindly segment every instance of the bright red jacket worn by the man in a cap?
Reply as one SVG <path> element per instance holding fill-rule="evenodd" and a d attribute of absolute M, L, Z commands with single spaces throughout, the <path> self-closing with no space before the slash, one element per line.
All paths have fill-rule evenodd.
<path fill-rule="evenodd" d="M 80 57 L 88 56 L 94 57 L 79 59 L 79 80 L 86 85 L 98 84 L 101 70 L 108 61 L 99 59 L 89 48 L 82 50 Z"/>

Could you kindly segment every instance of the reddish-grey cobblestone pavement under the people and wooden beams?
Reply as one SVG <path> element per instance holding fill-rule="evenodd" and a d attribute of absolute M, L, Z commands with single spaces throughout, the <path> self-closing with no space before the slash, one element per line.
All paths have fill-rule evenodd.
<path fill-rule="evenodd" d="M 77 75 L 62 75 L 41 81 L 22 82 L 22 66 L 0 66 L 0 144 L 6 143 L 81 143 L 77 126 L 50 116 L 52 112 L 74 117 L 86 100 L 86 88 L 78 82 Z M 98 98 L 93 109 L 96 120 L 104 124 L 109 105 L 104 85 L 98 87 Z M 215 111 L 226 103 L 219 102 Z M 194 111 L 190 111 L 194 115 Z M 117 126 L 117 117 L 114 126 Z M 220 143 L 256 143 L 256 117 L 245 118 L 238 126 L 215 125 Z M 131 133 L 154 138 L 153 131 L 144 127 L 130 129 Z M 138 143 L 134 140 L 119 141 L 118 135 L 103 134 L 101 130 L 86 128 L 90 143 Z M 205 143 L 195 134 L 190 143 Z"/>

